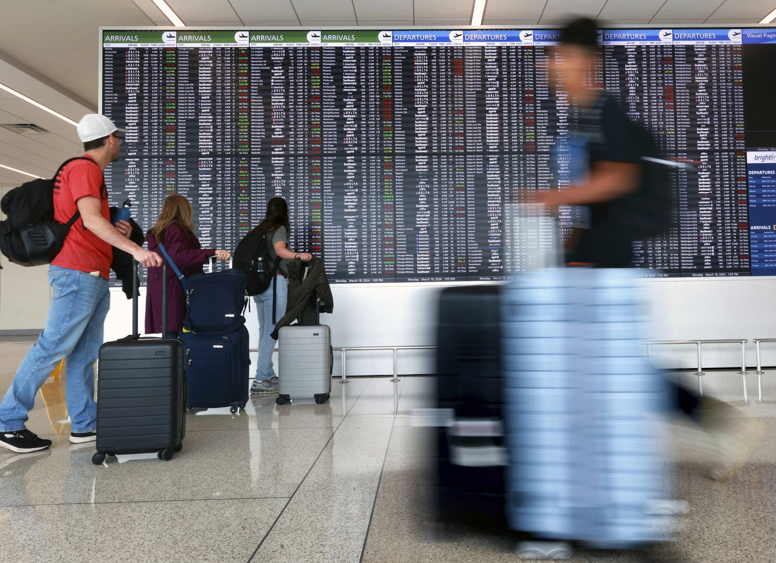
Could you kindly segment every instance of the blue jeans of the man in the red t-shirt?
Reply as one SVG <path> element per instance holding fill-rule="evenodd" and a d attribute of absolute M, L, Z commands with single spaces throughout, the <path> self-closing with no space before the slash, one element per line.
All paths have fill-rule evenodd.
<path fill-rule="evenodd" d="M 46 328 L 24 356 L 0 402 L 0 432 L 25 428 L 27 413 L 35 405 L 35 394 L 62 358 L 71 432 L 96 429 L 94 363 L 110 307 L 108 280 L 58 266 L 50 266 L 48 276 L 52 294 Z"/>

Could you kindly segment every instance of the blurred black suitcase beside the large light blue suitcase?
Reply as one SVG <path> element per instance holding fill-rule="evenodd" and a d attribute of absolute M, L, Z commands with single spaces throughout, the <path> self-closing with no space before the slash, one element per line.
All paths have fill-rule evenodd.
<path fill-rule="evenodd" d="M 506 527 L 501 401 L 500 287 L 449 287 L 439 299 L 438 510 L 445 520 Z"/>

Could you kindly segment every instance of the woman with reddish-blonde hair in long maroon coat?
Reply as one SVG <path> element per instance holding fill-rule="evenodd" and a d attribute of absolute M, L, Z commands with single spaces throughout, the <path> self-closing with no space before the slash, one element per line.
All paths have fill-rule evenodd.
<path fill-rule="evenodd" d="M 184 196 L 173 194 L 165 199 L 161 214 L 154 228 L 148 231 L 148 250 L 161 254 L 158 241 L 175 262 L 181 273 L 188 277 L 202 273 L 202 266 L 210 256 L 219 260 L 228 260 L 229 252 L 214 248 L 199 248 L 199 240 L 194 235 L 192 224 L 192 206 Z M 162 256 L 164 257 L 164 256 Z M 167 331 L 170 338 L 177 338 L 183 329 L 186 315 L 186 298 L 178 276 L 170 266 L 167 267 Z M 146 291 L 146 334 L 161 333 L 161 268 L 148 269 L 148 287 Z"/>

